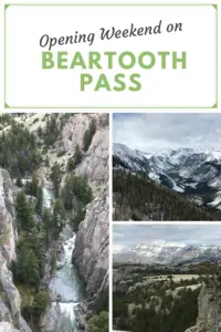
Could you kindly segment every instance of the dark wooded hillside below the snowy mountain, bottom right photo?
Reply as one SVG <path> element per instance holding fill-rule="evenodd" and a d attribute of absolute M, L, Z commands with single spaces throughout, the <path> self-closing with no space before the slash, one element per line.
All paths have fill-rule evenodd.
<path fill-rule="evenodd" d="M 114 266 L 115 330 L 133 332 L 212 332 L 214 298 L 201 273 L 217 267 Z M 212 278 L 212 277 L 211 277 Z M 220 284 L 219 290 L 220 293 Z M 220 312 L 218 324 L 220 320 Z"/>

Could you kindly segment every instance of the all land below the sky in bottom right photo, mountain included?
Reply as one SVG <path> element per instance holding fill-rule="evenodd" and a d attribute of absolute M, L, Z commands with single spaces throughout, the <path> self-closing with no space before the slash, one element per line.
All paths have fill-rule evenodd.
<path fill-rule="evenodd" d="M 221 276 L 220 249 L 155 243 L 137 245 L 127 255 L 115 255 L 114 330 L 219 331 L 214 330 L 217 322 L 220 326 L 220 309 L 215 321 L 214 308 L 220 307 L 213 287 L 215 284 L 215 294 L 219 294 L 215 276 Z M 210 257 L 208 250 L 214 255 Z"/>

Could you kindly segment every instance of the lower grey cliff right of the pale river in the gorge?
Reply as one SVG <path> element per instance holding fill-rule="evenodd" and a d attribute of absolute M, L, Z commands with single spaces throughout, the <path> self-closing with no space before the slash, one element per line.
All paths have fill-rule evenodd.
<path fill-rule="evenodd" d="M 91 301 L 97 299 L 108 284 L 108 208 L 107 189 L 104 188 L 87 206 L 73 252 L 73 262 L 86 283 Z"/>

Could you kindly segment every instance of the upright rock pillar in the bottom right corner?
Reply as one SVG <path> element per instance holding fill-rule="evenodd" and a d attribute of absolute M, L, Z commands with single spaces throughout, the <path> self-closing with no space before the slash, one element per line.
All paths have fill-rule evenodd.
<path fill-rule="evenodd" d="M 198 308 L 199 308 L 199 315 L 197 320 L 197 324 L 186 332 L 213 332 L 214 331 L 214 320 L 213 320 L 213 308 L 211 295 L 208 294 L 207 287 L 203 286 L 199 298 L 198 298 Z M 221 317 L 221 312 L 219 313 Z M 220 319 L 219 319 L 220 320 Z M 219 324 L 219 331 L 221 330 L 221 320 Z"/>

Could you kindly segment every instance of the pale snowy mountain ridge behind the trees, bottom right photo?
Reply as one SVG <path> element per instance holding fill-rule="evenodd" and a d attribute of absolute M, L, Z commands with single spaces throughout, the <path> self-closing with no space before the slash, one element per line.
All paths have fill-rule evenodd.
<path fill-rule="evenodd" d="M 221 260 L 221 246 L 198 246 L 166 241 L 140 243 L 128 251 L 114 255 L 115 262 L 185 263 Z"/>

